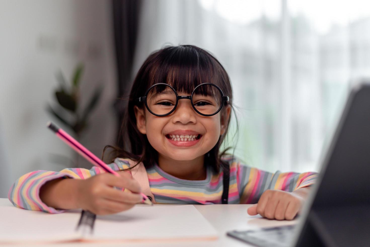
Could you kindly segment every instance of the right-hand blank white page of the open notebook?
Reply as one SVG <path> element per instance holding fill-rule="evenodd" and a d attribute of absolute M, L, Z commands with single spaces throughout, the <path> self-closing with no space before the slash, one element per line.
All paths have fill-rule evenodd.
<path fill-rule="evenodd" d="M 133 207 L 97 216 L 92 239 L 164 240 L 217 238 L 217 231 L 193 205 Z"/>

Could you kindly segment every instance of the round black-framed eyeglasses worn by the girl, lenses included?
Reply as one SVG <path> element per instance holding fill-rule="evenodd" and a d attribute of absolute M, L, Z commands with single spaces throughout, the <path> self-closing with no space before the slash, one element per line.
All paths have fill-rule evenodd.
<path fill-rule="evenodd" d="M 193 109 L 202 116 L 217 114 L 229 101 L 229 97 L 224 96 L 222 90 L 213 83 L 199 84 L 190 96 L 179 96 L 172 86 L 157 83 L 147 90 L 145 96 L 136 100 L 144 102 L 151 114 L 164 117 L 176 110 L 178 101 L 181 99 L 190 100 Z"/>

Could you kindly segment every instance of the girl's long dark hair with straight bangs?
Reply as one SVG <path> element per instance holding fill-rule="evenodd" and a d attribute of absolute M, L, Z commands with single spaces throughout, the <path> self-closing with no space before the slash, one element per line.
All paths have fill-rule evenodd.
<path fill-rule="evenodd" d="M 124 143 L 121 147 L 107 145 L 105 149 L 113 148 L 114 153 L 111 162 L 115 158 L 130 158 L 145 167 L 151 167 L 158 162 L 158 152 L 151 146 L 146 135 L 141 134 L 136 125 L 134 106 L 145 107 L 138 103 L 137 98 L 144 96 L 147 89 L 156 83 L 167 83 L 176 91 L 191 94 L 192 90 L 199 84 L 212 82 L 220 87 L 225 96 L 229 96 L 228 105 L 232 105 L 231 83 L 226 70 L 221 63 L 208 51 L 192 45 L 167 46 L 161 50 L 154 51 L 144 61 L 139 69 L 129 95 L 127 111 L 122 121 L 118 143 Z M 221 117 L 227 119 L 225 107 L 220 111 Z M 229 148 L 222 153 L 219 152 L 222 141 L 228 131 L 231 117 L 226 124 L 226 131 L 219 137 L 216 145 L 205 155 L 206 166 L 211 166 L 218 173 L 220 167 L 226 165 L 221 157 Z M 129 140 L 129 141 L 127 141 Z"/>

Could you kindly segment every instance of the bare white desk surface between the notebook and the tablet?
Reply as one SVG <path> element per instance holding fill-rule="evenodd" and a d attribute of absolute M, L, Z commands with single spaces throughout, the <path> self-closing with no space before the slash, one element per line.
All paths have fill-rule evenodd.
<path fill-rule="evenodd" d="M 0 198 L 0 210 L 4 206 L 13 206 L 7 198 Z M 167 204 L 155 204 L 155 207 L 171 207 L 173 205 Z M 195 208 L 212 224 L 213 227 L 219 232 L 219 238 L 215 241 L 186 241 L 186 242 L 166 242 L 161 244 L 112 244 L 109 243 L 107 246 L 251 246 L 242 241 L 233 239 L 226 236 L 226 231 L 231 230 L 242 230 L 242 229 L 253 229 L 260 227 L 270 227 L 270 226 L 283 226 L 296 223 L 297 219 L 292 221 L 278 221 L 278 220 L 268 220 L 258 216 L 249 216 L 247 213 L 247 208 L 251 204 L 213 204 L 213 205 L 194 205 Z M 19 209 L 22 210 L 22 209 Z M 16 217 L 16 216 L 14 216 Z M 0 224 L 6 224 L 6 222 L 1 222 Z M 77 224 L 77 222 L 76 222 Z M 9 245 L 16 246 L 16 245 Z M 24 246 L 24 245 L 23 245 Z M 33 245 L 36 246 L 36 245 Z M 37 246 L 40 246 L 39 244 Z M 68 244 L 54 244 L 47 246 L 102 246 L 99 244 L 92 243 L 68 243 Z"/>

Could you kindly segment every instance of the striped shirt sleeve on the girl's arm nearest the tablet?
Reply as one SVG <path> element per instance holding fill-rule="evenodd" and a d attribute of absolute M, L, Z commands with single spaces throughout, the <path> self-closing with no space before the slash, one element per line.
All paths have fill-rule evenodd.
<path fill-rule="evenodd" d="M 243 204 L 258 203 L 262 193 L 266 190 L 292 192 L 310 186 L 315 182 L 318 175 L 315 172 L 281 173 L 276 171 L 276 173 L 269 173 L 240 163 L 236 164 L 236 170 L 240 203 Z"/>

